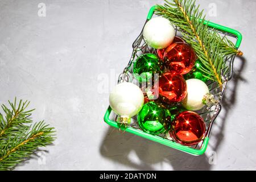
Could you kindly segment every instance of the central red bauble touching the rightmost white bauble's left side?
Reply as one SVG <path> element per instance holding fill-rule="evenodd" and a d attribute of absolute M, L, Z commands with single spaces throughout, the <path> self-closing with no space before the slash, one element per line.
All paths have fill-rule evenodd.
<path fill-rule="evenodd" d="M 187 96 L 187 85 L 181 75 L 164 73 L 159 77 L 159 97 L 168 104 L 181 102 Z"/>

